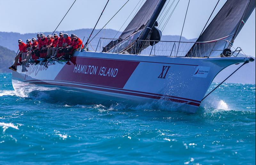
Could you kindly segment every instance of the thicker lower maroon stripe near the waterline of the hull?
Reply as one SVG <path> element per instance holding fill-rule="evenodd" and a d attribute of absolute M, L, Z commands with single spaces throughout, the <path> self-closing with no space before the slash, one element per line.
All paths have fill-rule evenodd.
<path fill-rule="evenodd" d="M 151 96 L 151 95 L 140 94 L 140 93 L 131 93 L 131 92 L 125 92 L 125 91 L 118 91 L 118 90 L 102 89 L 102 88 L 97 88 L 97 87 L 88 87 L 88 86 L 76 85 L 76 84 L 66 84 L 66 83 L 61 83 L 61 82 L 47 83 L 47 82 L 41 81 L 41 82 L 30 82 L 30 83 L 44 84 L 44 85 L 68 86 L 68 87 L 83 88 L 83 89 L 89 89 L 89 90 L 98 90 L 98 91 L 104 91 L 104 92 L 119 93 L 119 94 L 124 94 L 124 95 L 132 95 L 132 96 L 146 97 L 146 98 L 153 98 L 153 99 L 161 99 L 162 98 L 160 96 Z M 179 99 L 173 99 L 173 98 L 163 98 L 163 99 L 170 100 L 172 102 L 185 103 L 185 104 L 195 105 L 195 106 L 200 105 L 199 103 L 188 102 L 185 100 L 179 100 Z"/>

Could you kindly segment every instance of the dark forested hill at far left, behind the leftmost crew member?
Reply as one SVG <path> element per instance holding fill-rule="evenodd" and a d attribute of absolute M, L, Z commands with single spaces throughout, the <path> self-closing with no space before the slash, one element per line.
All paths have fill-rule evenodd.
<path fill-rule="evenodd" d="M 0 73 L 11 72 L 8 68 L 12 65 L 15 55 L 14 51 L 0 46 Z"/>

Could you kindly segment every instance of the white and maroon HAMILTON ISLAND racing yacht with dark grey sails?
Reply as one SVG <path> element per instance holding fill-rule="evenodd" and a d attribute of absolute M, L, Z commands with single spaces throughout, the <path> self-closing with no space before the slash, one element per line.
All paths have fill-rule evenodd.
<path fill-rule="evenodd" d="M 227 0 L 196 42 L 162 41 L 157 18 L 166 0 L 147 0 L 117 39 L 101 38 L 96 51 L 79 49 L 67 62 L 41 62 L 12 72 L 18 93 L 61 90 L 74 99 L 145 104 L 168 102 L 195 113 L 214 77 L 254 61 L 233 42 L 254 0 Z"/>

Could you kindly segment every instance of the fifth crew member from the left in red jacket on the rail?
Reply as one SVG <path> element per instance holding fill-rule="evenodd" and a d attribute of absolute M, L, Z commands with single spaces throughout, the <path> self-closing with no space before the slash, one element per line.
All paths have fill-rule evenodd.
<path fill-rule="evenodd" d="M 39 49 L 39 51 L 36 52 L 36 55 L 38 57 L 40 57 L 38 59 L 38 61 L 44 61 L 45 60 L 46 54 L 47 54 L 47 48 L 46 48 L 47 43 L 48 43 L 48 39 L 46 39 L 44 34 L 41 33 L 40 34 L 40 40 L 38 42 L 38 49 Z"/>

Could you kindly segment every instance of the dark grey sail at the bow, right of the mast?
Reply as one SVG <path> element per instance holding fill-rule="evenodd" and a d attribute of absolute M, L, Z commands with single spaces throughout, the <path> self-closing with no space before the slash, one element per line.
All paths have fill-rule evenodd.
<path fill-rule="evenodd" d="M 219 56 L 229 46 L 224 40 L 233 43 L 254 8 L 255 0 L 227 0 L 186 56 Z"/>

